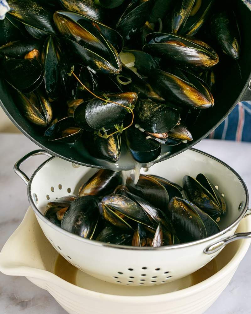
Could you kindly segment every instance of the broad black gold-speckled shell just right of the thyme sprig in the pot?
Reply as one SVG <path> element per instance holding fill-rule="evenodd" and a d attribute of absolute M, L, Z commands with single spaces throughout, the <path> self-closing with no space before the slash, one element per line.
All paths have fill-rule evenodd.
<path fill-rule="evenodd" d="M 165 133 L 180 120 L 179 112 L 165 105 L 142 99 L 135 107 L 136 121 L 147 132 Z"/>

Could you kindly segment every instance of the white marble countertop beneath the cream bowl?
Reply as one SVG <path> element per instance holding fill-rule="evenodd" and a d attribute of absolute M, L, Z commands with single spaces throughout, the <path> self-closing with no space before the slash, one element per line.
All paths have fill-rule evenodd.
<path fill-rule="evenodd" d="M 251 143 L 203 140 L 196 148 L 225 161 L 235 169 L 248 186 L 251 195 Z M 28 208 L 26 185 L 14 174 L 13 165 L 37 146 L 22 134 L 0 133 L 0 249 L 21 222 Z M 45 157 L 37 156 L 22 169 L 31 174 Z M 232 281 L 206 314 L 251 313 L 251 248 L 244 257 Z M 10 277 L 0 273 L 1 314 L 64 314 L 51 297 L 26 278 Z M 119 314 L 119 313 L 118 313 Z M 185 314 L 185 313 L 184 313 Z"/>

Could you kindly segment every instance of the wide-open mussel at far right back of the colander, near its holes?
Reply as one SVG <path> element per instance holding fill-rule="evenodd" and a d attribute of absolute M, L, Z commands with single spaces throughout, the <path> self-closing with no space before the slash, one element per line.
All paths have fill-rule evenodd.
<path fill-rule="evenodd" d="M 220 216 L 226 214 L 227 211 L 224 197 L 205 176 L 199 175 L 196 178 L 200 181 L 191 176 L 183 178 L 183 188 L 187 198 L 219 221 Z"/>

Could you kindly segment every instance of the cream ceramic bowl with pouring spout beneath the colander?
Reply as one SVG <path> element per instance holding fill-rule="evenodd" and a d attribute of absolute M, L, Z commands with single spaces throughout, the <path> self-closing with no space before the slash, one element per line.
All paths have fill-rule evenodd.
<path fill-rule="evenodd" d="M 250 229 L 247 216 L 237 231 Z M 0 253 L 0 271 L 27 277 L 70 314 L 200 314 L 225 289 L 249 245 L 250 240 L 230 243 L 209 264 L 183 279 L 153 287 L 118 286 L 83 273 L 61 257 L 29 208 Z"/>

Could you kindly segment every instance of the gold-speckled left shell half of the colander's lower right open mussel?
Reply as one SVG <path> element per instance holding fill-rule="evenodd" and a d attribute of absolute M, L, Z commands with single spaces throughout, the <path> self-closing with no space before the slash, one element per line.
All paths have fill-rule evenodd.
<path fill-rule="evenodd" d="M 206 238 L 206 227 L 187 200 L 177 197 L 172 198 L 168 205 L 168 216 L 172 220 L 181 243 Z"/>

